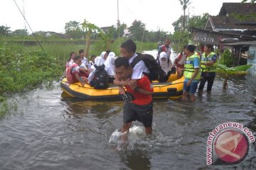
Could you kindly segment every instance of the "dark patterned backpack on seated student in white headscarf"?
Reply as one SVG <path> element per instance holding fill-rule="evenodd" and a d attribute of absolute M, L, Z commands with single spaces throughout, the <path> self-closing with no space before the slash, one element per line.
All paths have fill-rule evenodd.
<path fill-rule="evenodd" d="M 90 81 L 90 86 L 93 86 L 95 89 L 107 89 L 109 87 L 109 77 L 105 70 L 105 65 L 97 66 L 94 65 L 95 70 L 95 77 L 92 81 Z"/>

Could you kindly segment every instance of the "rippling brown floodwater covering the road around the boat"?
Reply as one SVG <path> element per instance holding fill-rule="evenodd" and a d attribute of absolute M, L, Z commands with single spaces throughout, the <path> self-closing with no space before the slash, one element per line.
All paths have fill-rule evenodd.
<path fill-rule="evenodd" d="M 65 98 L 56 82 L 16 96 L 18 111 L 0 120 L 0 169 L 256 169 L 255 145 L 234 165 L 206 165 L 208 133 L 238 122 L 256 136 L 255 77 L 217 77 L 196 102 L 155 100 L 153 135 L 133 123 L 120 145 L 123 101 Z M 12 100 L 14 101 L 14 100 Z"/>

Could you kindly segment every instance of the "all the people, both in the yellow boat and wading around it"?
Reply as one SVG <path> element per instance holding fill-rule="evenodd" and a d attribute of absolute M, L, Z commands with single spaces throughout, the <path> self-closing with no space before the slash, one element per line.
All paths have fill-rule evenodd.
<path fill-rule="evenodd" d="M 170 58 L 170 42 L 171 40 L 166 40 L 164 45 L 159 47 L 159 55 L 156 59 L 161 67 L 159 81 L 167 81 L 171 70 L 176 68 L 178 77 L 185 77 L 183 83 L 183 100 L 186 100 L 189 94 L 191 101 L 195 101 L 194 94 L 199 81 L 201 82 L 199 93 L 202 93 L 206 81 L 208 81 L 207 91 L 211 91 L 215 78 L 217 55 L 211 52 L 213 50 L 212 45 L 205 45 L 202 55 L 195 52 L 195 45 L 186 45 L 172 64 Z M 151 80 L 147 76 L 149 74 L 149 68 L 146 67 L 141 54 L 137 53 L 136 50 L 137 46 L 134 41 L 126 40 L 120 45 L 120 54 L 122 57 L 115 57 L 114 52 L 102 52 L 100 57 L 92 56 L 90 62 L 85 57 L 84 51 L 80 50 L 80 55 L 76 57 L 73 52 L 70 53 L 70 60 L 66 66 L 73 67 L 73 63 L 76 64 L 72 68 L 72 73 L 75 74 L 76 81 L 80 81 L 84 85 L 85 83 L 90 84 L 97 67 L 104 65 L 105 71 L 110 76 L 110 82 L 119 86 L 119 94 L 132 98 L 132 100 L 124 98 L 121 130 L 124 138 L 126 136 L 125 134 L 129 132 L 132 121 L 135 120 L 143 123 L 146 134 L 149 135 L 152 132 L 152 94 L 154 90 Z M 137 62 L 133 64 L 135 60 Z M 82 75 L 81 72 L 85 72 L 85 75 Z"/>

